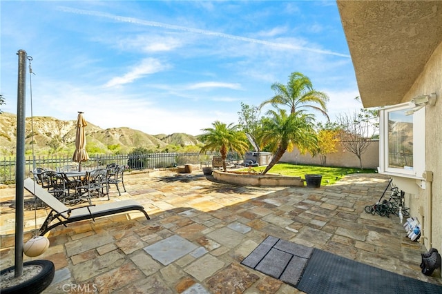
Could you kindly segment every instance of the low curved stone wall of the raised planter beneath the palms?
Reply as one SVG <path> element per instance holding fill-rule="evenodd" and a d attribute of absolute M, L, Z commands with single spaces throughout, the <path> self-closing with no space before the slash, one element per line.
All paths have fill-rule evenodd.
<path fill-rule="evenodd" d="M 213 170 L 213 178 L 224 183 L 240 186 L 304 186 L 301 177 L 289 177 L 284 175 L 254 175 L 248 172 L 227 172 Z"/>

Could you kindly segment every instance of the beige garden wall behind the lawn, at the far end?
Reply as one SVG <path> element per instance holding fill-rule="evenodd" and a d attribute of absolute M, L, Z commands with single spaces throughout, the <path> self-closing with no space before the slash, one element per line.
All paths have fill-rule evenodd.
<path fill-rule="evenodd" d="M 338 144 L 336 153 L 330 153 L 327 155 L 326 166 L 343 166 L 343 167 L 359 167 L 359 159 L 354 153 L 345 150 L 342 144 Z M 309 153 L 305 155 L 300 154 L 299 150 L 295 148 L 291 152 L 286 152 L 282 155 L 280 161 L 289 162 L 291 164 L 314 164 L 320 166 L 319 156 L 311 157 Z M 379 141 L 372 141 L 371 144 L 365 150 L 362 156 L 363 168 L 374 168 L 379 166 Z"/>

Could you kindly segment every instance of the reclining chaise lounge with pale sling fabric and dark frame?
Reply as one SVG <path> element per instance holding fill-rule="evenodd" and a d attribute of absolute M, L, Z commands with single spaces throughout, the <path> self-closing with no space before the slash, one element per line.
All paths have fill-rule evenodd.
<path fill-rule="evenodd" d="M 84 219 L 93 219 L 95 222 L 95 217 L 126 213 L 131 210 L 140 210 L 142 213 L 144 213 L 146 219 L 151 219 L 146 213 L 146 210 L 144 210 L 144 207 L 134 200 L 123 200 L 119 202 L 99 204 L 97 206 L 88 205 L 77 208 L 68 208 L 57 198 L 50 195 L 50 193 L 44 190 L 44 188 L 41 188 L 41 186 L 35 183 L 30 177 L 25 179 L 24 188 L 51 208 L 48 217 L 46 217 L 44 223 L 41 225 L 41 228 L 39 228 L 38 234 L 41 236 L 56 226 L 63 225 L 67 227 L 67 224 L 79 222 Z M 55 219 L 57 219 L 59 222 L 52 223 L 55 221 Z"/>

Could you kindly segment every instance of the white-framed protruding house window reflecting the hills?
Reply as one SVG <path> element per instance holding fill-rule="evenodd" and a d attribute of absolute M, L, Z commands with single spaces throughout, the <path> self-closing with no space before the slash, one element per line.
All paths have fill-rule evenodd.
<path fill-rule="evenodd" d="M 409 104 L 380 110 L 379 173 L 422 178 L 425 170 L 425 107 Z"/>

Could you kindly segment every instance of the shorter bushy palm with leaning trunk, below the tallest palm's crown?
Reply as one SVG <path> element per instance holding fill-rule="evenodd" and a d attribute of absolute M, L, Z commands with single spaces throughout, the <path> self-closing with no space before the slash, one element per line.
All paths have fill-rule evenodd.
<path fill-rule="evenodd" d="M 264 120 L 260 139 L 262 144 L 272 151 L 273 158 L 262 175 L 278 163 L 286 150 L 291 151 L 294 146 L 297 146 L 302 153 L 306 150 L 314 153 L 314 150 L 317 150 L 313 115 L 300 112 L 287 115 L 283 109 L 279 109 L 278 112 L 269 110 L 267 113 L 271 117 Z"/>

